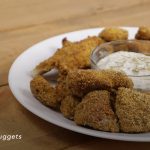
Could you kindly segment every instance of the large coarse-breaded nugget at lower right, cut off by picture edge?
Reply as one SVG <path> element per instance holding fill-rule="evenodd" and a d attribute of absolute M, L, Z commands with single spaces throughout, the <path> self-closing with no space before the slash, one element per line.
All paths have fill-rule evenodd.
<path fill-rule="evenodd" d="M 122 132 L 150 131 L 150 95 L 119 88 L 115 109 Z"/>

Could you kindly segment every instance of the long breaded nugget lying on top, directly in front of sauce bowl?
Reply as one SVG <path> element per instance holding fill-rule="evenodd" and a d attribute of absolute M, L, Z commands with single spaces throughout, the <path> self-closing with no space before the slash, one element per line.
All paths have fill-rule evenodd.
<path fill-rule="evenodd" d="M 83 97 L 94 90 L 132 88 L 133 82 L 127 75 L 112 70 L 74 70 L 67 76 L 67 86 L 72 95 Z"/>

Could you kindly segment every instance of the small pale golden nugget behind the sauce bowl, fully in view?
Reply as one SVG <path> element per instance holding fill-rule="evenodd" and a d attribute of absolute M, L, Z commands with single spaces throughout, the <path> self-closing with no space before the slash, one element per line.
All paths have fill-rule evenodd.
<path fill-rule="evenodd" d="M 127 40 L 128 31 L 120 28 L 105 28 L 99 34 L 99 37 L 101 37 L 107 42 L 116 41 L 116 40 Z"/>

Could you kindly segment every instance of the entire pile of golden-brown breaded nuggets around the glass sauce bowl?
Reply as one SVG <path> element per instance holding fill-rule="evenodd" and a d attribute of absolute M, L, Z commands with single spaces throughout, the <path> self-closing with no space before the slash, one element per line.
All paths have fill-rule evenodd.
<path fill-rule="evenodd" d="M 140 27 L 136 39 L 150 40 L 150 28 Z M 79 42 L 62 41 L 62 48 L 33 70 L 32 94 L 77 125 L 108 132 L 149 132 L 150 95 L 133 89 L 122 72 L 90 69 L 92 50 L 104 42 L 127 40 L 128 32 L 105 28 Z M 44 73 L 56 68 L 53 86 Z"/>

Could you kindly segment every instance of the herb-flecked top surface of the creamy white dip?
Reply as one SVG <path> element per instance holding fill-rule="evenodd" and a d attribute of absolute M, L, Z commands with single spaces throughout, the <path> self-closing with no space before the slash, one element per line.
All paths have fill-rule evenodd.
<path fill-rule="evenodd" d="M 97 66 L 100 69 L 124 71 L 130 76 L 150 75 L 150 56 L 135 52 L 119 51 L 101 59 Z"/>

